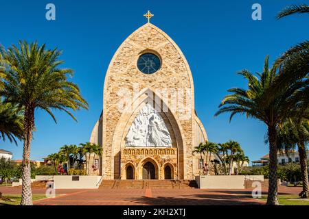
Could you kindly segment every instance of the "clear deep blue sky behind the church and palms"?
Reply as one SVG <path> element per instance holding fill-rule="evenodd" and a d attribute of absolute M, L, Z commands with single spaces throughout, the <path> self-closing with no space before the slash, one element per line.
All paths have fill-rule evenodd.
<path fill-rule="evenodd" d="M 56 21 L 45 19 L 45 5 L 56 5 Z M 262 21 L 253 21 L 251 5 L 262 5 Z M 229 115 L 214 118 L 227 89 L 246 87 L 236 75 L 247 68 L 262 70 L 264 57 L 271 62 L 297 42 L 308 39 L 308 16 L 290 16 L 277 21 L 275 14 L 286 5 L 309 3 L 288 0 L 238 1 L 4 1 L 0 0 L 0 43 L 5 47 L 18 40 L 38 40 L 63 50 L 65 67 L 73 68 L 72 79 L 80 86 L 89 110 L 76 112 L 78 123 L 55 112 L 58 123 L 36 111 L 32 159 L 42 159 L 63 144 L 89 141 L 102 110 L 104 76 L 117 47 L 135 29 L 151 22 L 179 45 L 190 64 L 195 86 L 196 112 L 212 142 L 236 140 L 251 160 L 268 153 L 266 127 L 258 120 Z M 306 27 L 306 28 L 305 28 Z M 0 148 L 21 159 L 23 144 L 0 142 Z"/>

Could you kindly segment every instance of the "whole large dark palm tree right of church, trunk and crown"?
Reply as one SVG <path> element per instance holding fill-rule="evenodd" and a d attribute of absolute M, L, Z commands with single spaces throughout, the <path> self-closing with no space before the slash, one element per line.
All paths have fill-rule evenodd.
<path fill-rule="evenodd" d="M 268 58 L 267 55 L 263 72 L 258 73 L 258 77 L 250 73 L 249 70 L 241 70 L 238 73 L 248 80 L 248 90 L 229 89 L 228 91 L 232 94 L 225 96 L 215 116 L 231 112 L 229 117 L 231 121 L 236 114 L 245 114 L 247 118 L 255 118 L 266 124 L 270 155 L 267 204 L 278 205 L 276 129 L 277 125 L 282 123 L 291 113 L 291 96 L 304 84 L 293 83 L 284 91 L 273 94 L 269 88 L 273 86 L 273 81 L 277 77 L 277 69 L 274 66 L 268 67 Z"/>

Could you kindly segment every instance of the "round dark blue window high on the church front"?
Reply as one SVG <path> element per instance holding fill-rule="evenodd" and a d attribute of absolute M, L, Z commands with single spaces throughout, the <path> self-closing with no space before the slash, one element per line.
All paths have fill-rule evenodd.
<path fill-rule="evenodd" d="M 137 68 L 144 74 L 155 73 L 161 67 L 161 61 L 157 55 L 145 53 L 139 56 L 137 60 Z"/>

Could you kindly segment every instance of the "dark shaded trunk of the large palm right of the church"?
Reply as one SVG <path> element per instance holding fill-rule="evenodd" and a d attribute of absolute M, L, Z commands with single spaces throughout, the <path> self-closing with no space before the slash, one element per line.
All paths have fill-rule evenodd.
<path fill-rule="evenodd" d="M 277 146 L 276 129 L 274 126 L 268 126 L 269 141 L 269 181 L 268 196 L 266 205 L 279 205 L 278 201 L 278 181 L 277 181 Z"/>

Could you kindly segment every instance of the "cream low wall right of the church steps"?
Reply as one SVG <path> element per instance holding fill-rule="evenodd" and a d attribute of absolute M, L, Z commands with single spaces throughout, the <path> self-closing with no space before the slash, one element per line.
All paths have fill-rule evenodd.
<path fill-rule="evenodd" d="M 254 179 L 256 181 L 264 181 L 264 176 L 196 176 L 195 180 L 198 188 L 201 189 L 244 189 L 244 181 Z"/>

